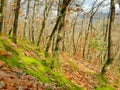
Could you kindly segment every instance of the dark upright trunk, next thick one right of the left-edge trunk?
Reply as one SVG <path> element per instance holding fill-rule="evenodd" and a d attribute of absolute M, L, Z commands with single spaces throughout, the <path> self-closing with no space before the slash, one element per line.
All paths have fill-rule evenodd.
<path fill-rule="evenodd" d="M 13 26 L 13 42 L 14 43 L 17 43 L 17 27 L 18 27 L 20 2 L 21 0 L 17 0 L 16 9 L 15 9 L 15 18 L 14 18 L 14 26 Z"/>

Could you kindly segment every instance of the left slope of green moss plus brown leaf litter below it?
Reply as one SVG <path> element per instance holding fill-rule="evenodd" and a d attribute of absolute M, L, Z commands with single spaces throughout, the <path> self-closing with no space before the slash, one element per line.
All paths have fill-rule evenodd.
<path fill-rule="evenodd" d="M 81 90 L 64 77 L 57 64 L 51 69 L 53 61 L 55 58 L 45 58 L 29 42 L 20 40 L 16 45 L 10 38 L 0 37 L 0 89 Z"/>

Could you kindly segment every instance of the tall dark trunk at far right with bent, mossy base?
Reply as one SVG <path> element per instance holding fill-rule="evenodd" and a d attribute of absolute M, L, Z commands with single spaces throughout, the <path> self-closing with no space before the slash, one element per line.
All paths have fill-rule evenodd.
<path fill-rule="evenodd" d="M 109 31 L 108 31 L 108 52 L 107 52 L 107 56 L 108 59 L 105 62 L 102 71 L 101 71 L 101 75 L 104 78 L 104 75 L 106 74 L 106 72 L 109 70 L 110 65 L 113 62 L 113 55 L 112 55 L 112 31 L 113 31 L 113 26 L 114 26 L 114 19 L 115 19 L 115 0 L 111 0 L 111 14 L 110 14 L 110 22 L 109 22 Z"/>

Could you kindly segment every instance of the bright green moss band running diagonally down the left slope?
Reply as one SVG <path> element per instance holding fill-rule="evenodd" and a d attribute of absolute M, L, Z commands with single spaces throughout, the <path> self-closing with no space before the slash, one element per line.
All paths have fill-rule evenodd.
<path fill-rule="evenodd" d="M 25 41 L 23 41 L 25 42 Z M 32 75 L 38 78 L 43 84 L 56 83 L 57 86 L 69 86 L 68 90 L 81 90 L 82 88 L 70 82 L 63 76 L 62 71 L 59 69 L 58 60 L 54 57 L 47 57 L 45 60 L 36 59 L 32 56 L 25 56 L 23 50 L 36 50 L 38 55 L 44 55 L 43 52 L 39 52 L 38 47 L 26 42 L 25 45 L 22 41 L 19 41 L 19 48 L 11 47 L 12 43 L 10 39 L 6 41 L 0 39 L 0 48 L 11 53 L 10 58 L 0 56 L 0 60 L 6 62 L 11 67 L 18 67 L 22 69 L 26 74 Z M 29 47 L 27 47 L 29 45 Z M 56 68 L 57 71 L 53 71 L 51 68 Z"/>

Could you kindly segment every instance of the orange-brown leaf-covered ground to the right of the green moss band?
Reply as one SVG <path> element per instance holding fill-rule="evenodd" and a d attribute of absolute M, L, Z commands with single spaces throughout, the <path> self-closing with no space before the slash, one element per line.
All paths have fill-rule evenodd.
<path fill-rule="evenodd" d="M 85 62 L 84 59 L 81 59 L 74 59 L 67 55 L 63 56 L 62 68 L 66 78 L 80 87 L 85 88 L 85 90 L 120 89 L 117 82 L 120 78 L 116 77 L 114 73 L 112 73 L 112 70 L 109 70 L 107 73 L 109 84 L 106 84 L 99 75 L 101 70 L 100 67 L 98 65 L 92 65 Z"/>

